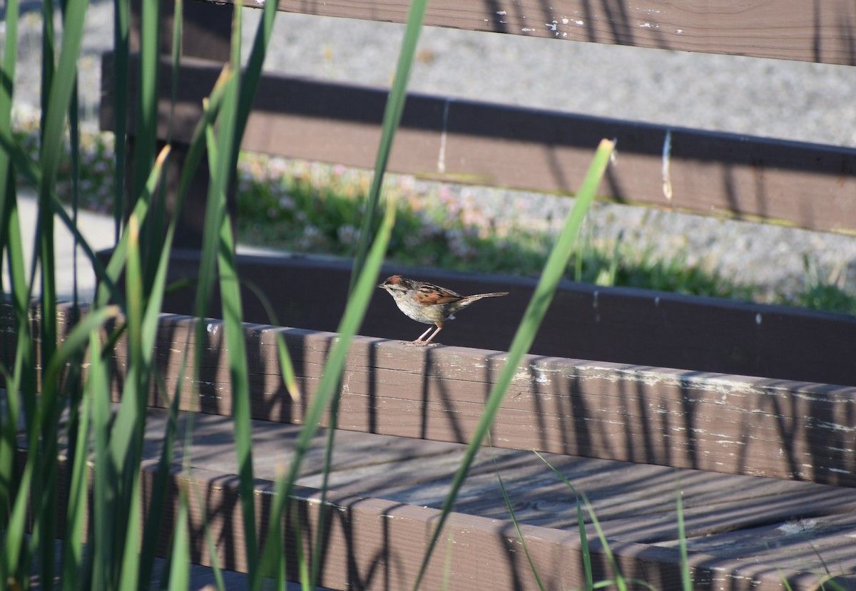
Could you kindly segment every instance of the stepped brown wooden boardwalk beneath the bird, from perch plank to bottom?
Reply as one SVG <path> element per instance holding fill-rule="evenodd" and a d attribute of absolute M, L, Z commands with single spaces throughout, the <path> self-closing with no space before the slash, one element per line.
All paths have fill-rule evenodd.
<path fill-rule="evenodd" d="M 8 330 L 11 316 L 8 307 L 3 310 L 0 320 Z M 74 314 L 68 305 L 58 313 L 64 334 Z M 806 320 L 804 312 L 794 317 Z M 161 552 L 168 548 L 177 491 L 189 484 L 193 562 L 212 563 L 205 545 L 208 523 L 217 541 L 217 563 L 242 571 L 246 542 L 223 323 L 203 321 L 204 337 L 198 341 L 196 322 L 164 314 L 156 342 L 155 363 L 166 392 L 175 392 L 181 381 L 181 411 L 187 413 L 182 425 L 192 423 L 190 447 L 172 458 L 173 514 L 164 523 Z M 827 316 L 824 322 L 846 333 L 856 321 Z M 561 326 L 548 329 L 562 331 Z M 276 334 L 294 359 L 301 389 L 296 400 L 282 385 Z M 245 324 L 244 339 L 256 515 L 264 532 L 272 481 L 293 457 L 336 334 Z M 193 360 L 197 347 L 202 347 L 198 377 L 181 377 L 182 359 Z M 120 340 L 116 400 L 124 356 Z M 282 525 L 287 539 L 302 541 L 304 553 L 321 545 L 324 587 L 410 588 L 462 445 L 472 437 L 502 363 L 504 354 L 497 351 L 413 347 L 365 336 L 354 340 L 342 375 L 326 504 L 319 493 L 321 433 L 294 490 L 293 513 Z M 193 375 L 193 368 L 187 372 Z M 149 459 L 141 466 L 144 499 L 152 492 L 166 403 L 152 392 Z M 856 589 L 853 417 L 853 386 L 528 356 L 491 430 L 495 447 L 479 453 L 422 588 L 538 588 L 497 475 L 544 588 L 585 584 L 577 498 L 531 451 L 538 449 L 591 501 L 624 576 L 660 591 L 681 588 L 676 514 L 681 490 L 694 589 L 772 591 L 787 581 L 792 589 L 813 590 L 828 576 L 841 588 Z M 185 458 L 187 472 L 182 471 Z M 318 541 L 322 515 L 329 529 Z M 611 578 L 609 556 L 587 514 L 586 539 L 594 580 Z M 294 548 L 287 549 L 292 567 Z"/>

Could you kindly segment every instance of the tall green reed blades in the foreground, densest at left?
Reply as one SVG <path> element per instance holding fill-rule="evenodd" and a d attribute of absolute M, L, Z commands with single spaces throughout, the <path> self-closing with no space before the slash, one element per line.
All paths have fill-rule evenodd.
<path fill-rule="evenodd" d="M 235 266 L 235 241 L 226 209 L 229 187 L 235 180 L 239 146 L 247 117 L 258 88 L 262 64 L 274 18 L 276 3 L 265 3 L 264 16 L 247 61 L 241 69 L 241 10 L 235 11 L 232 56 L 223 68 L 217 84 L 205 101 L 204 113 L 187 148 L 185 167 L 181 172 L 173 217 L 164 220 L 162 190 L 163 171 L 169 165 L 172 147 L 158 150 L 158 23 L 160 3 L 144 0 L 140 30 L 140 80 L 134 85 L 138 95 L 130 101 L 127 78 L 128 2 L 116 0 L 116 248 L 109 262 L 99 263 L 75 227 L 74 214 L 68 216 L 57 197 L 57 170 L 61 159 L 62 134 L 67 128 L 72 136 L 77 128 L 76 63 L 80 55 L 87 0 L 62 3 L 62 44 L 56 53 L 53 40 L 51 5 L 45 3 L 43 56 L 43 100 L 39 155 L 33 159 L 10 129 L 14 98 L 15 39 L 19 16 L 18 0 L 9 0 L 6 9 L 6 38 L 3 46 L 3 71 L 0 80 L 0 214 L 3 259 L 9 261 L 9 292 L 3 287 L 4 306 L 11 310 L 14 331 L 4 334 L 5 363 L 0 366 L 3 393 L 2 438 L 0 438 L 0 581 L 13 588 L 28 588 L 34 570 L 39 572 L 41 588 L 54 588 L 55 576 L 63 589 L 149 588 L 153 583 L 158 540 L 169 536 L 172 552 L 169 568 L 159 582 L 162 588 L 187 588 L 188 580 L 188 499 L 191 491 L 179 494 L 175 528 L 162 531 L 167 511 L 172 444 L 176 437 L 175 420 L 181 383 L 169 390 L 158 375 L 155 363 L 158 315 L 167 289 L 167 265 L 176 232 L 178 214 L 190 186 L 194 169 L 207 157 L 211 178 L 205 209 L 199 266 L 195 338 L 205 340 L 201 318 L 209 314 L 222 316 L 228 348 L 229 381 L 234 405 L 235 453 L 238 461 L 239 489 L 244 557 L 250 588 L 260 588 L 265 576 L 271 576 L 277 588 L 284 588 L 286 578 L 300 578 L 306 588 L 314 585 L 319 557 L 304 555 L 297 573 L 286 570 L 284 548 L 293 541 L 282 538 L 282 523 L 287 518 L 289 493 L 300 472 L 300 460 L 306 453 L 317 425 L 330 405 L 336 405 L 339 382 L 351 340 L 357 333 L 377 282 L 377 275 L 389 245 L 395 224 L 395 204 L 384 204 L 381 198 L 383 173 L 395 129 L 401 117 L 407 87 L 407 72 L 413 61 L 419 28 L 425 14 L 425 0 L 413 3 L 408 16 L 407 33 L 384 116 L 383 134 L 378 147 L 377 166 L 366 221 L 354 262 L 354 279 L 348 305 L 339 325 L 339 339 L 330 352 L 318 393 L 306 411 L 306 426 L 297 442 L 296 457 L 287 472 L 276 482 L 269 519 L 264 532 L 256 529 L 254 504 L 254 470 L 252 429 L 250 423 L 249 376 L 244 331 L 241 323 L 241 293 Z M 174 39 L 181 37 L 181 3 L 177 3 Z M 177 68 L 181 56 L 173 52 L 171 67 Z M 175 71 L 175 69 L 173 70 Z M 172 80 L 175 80 L 173 77 Z M 134 114 L 137 134 L 134 138 L 134 161 L 126 163 L 124 115 L 128 104 L 137 105 Z M 79 144 L 72 142 L 73 151 Z M 484 417 L 461 464 L 437 523 L 434 540 L 449 515 L 455 494 L 460 488 L 473 455 L 490 429 L 523 355 L 532 344 L 538 323 L 544 316 L 556 285 L 574 249 L 576 234 L 597 190 L 603 170 L 609 162 L 612 146 L 604 142 L 597 151 L 590 174 L 580 189 L 577 205 L 550 255 L 542 280 L 509 352 L 496 387 L 490 393 Z M 125 202 L 122 171 L 133 168 L 127 199 L 127 222 L 120 204 Z M 72 167 L 72 182 L 79 186 L 80 168 Z M 39 220 L 33 245 L 33 266 L 26 269 L 22 233 L 18 219 L 16 184 L 22 181 L 38 190 Z M 374 212 L 383 212 L 379 223 Z M 166 222 L 166 223 L 164 223 Z M 52 242 L 53 227 L 68 227 L 80 241 L 80 247 L 98 277 L 97 297 L 92 307 L 72 315 L 71 323 L 61 335 L 56 306 L 56 252 Z M 376 229 L 377 226 L 377 229 Z M 120 231 L 121 230 L 121 231 Z M 39 269 L 37 274 L 36 269 Z M 122 284 L 123 282 L 123 284 Z M 36 287 L 39 296 L 31 301 Z M 220 310 L 209 310 L 209 294 L 217 288 L 222 295 Z M 33 316 L 39 316 L 39 334 L 33 334 Z M 127 365 L 117 380 L 116 367 L 110 357 L 118 343 L 127 349 Z M 36 346 L 39 346 L 38 351 Z M 278 341 L 283 379 L 296 393 L 288 350 Z M 195 359 L 183 359 L 182 367 L 201 367 L 202 347 L 194 347 Z M 86 367 L 86 372 L 81 368 Z M 197 379 L 193 383 L 198 383 Z M 119 401 L 111 402 L 110 388 L 122 384 Z M 143 499 L 140 488 L 140 465 L 146 430 L 146 401 L 154 389 L 169 402 L 168 427 L 163 434 L 163 452 L 150 497 Z M 18 424 L 24 424 L 26 453 L 18 450 Z M 66 442 L 63 454 L 59 442 Z M 332 447 L 333 440 L 330 440 Z M 328 449 L 330 452 L 330 449 Z M 16 458 L 21 455 L 22 461 Z M 62 455 L 62 458 L 61 458 Z M 329 454 L 328 454 L 329 455 Z M 92 462 L 90 462 L 92 460 Z M 90 465 L 92 464 L 92 465 Z M 92 485 L 90 485 L 92 478 Z M 91 487 L 91 488 L 90 488 Z M 88 513 L 88 493 L 92 493 L 97 511 Z M 146 515 L 144 516 L 144 505 Z M 59 526 L 62 518 L 64 527 Z M 323 529 L 323 528 L 322 528 Z M 86 533 L 86 536 L 84 536 Z M 318 531 L 318 543 L 324 532 Z M 84 545 L 83 540 L 88 541 Z M 55 572 L 56 540 L 61 539 L 60 570 Z M 264 543 L 260 540 L 265 540 Z M 425 565 L 431 549 L 425 554 Z M 308 564 L 307 564 L 308 563 Z M 308 568 L 308 567 L 312 568 Z M 421 577 L 421 575 L 420 575 Z M 222 579 L 219 583 L 223 587 Z M 419 579 L 414 588 L 419 587 Z"/>

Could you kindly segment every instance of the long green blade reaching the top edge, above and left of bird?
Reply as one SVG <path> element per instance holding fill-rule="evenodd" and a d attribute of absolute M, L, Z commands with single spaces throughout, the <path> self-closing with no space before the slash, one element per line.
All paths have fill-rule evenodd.
<path fill-rule="evenodd" d="M 366 203 L 366 213 L 360 226 L 360 239 L 357 240 L 357 250 L 354 256 L 354 271 L 351 274 L 351 285 L 348 291 L 354 291 L 354 286 L 360 277 L 366 260 L 369 245 L 372 244 L 372 232 L 375 226 L 377 204 L 380 201 L 381 187 L 383 186 L 383 175 L 389 163 L 389 154 L 392 151 L 392 142 L 395 139 L 395 131 L 401 123 L 401 113 L 404 111 L 404 103 L 407 99 L 407 81 L 410 79 L 410 68 L 413 66 L 413 56 L 416 55 L 416 45 L 419 43 L 419 32 L 422 30 L 422 22 L 425 20 L 425 9 L 428 0 L 413 0 L 407 13 L 407 27 L 404 38 L 401 41 L 401 50 L 398 54 L 398 65 L 395 68 L 395 80 L 392 90 L 389 92 L 386 108 L 383 111 L 383 130 L 381 132 L 380 145 L 377 148 L 375 160 L 374 177 L 372 187 L 369 190 Z"/>

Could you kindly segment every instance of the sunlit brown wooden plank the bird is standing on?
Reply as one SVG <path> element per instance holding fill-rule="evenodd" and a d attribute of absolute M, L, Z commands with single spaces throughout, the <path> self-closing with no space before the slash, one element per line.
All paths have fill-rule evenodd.
<path fill-rule="evenodd" d="M 193 359 L 191 318 L 164 316 L 157 363 L 171 391 Z M 294 403 L 275 335 L 299 376 Z M 199 381 L 182 408 L 229 415 L 223 325 L 205 321 Z M 336 334 L 247 326 L 253 418 L 302 423 Z M 122 357 L 120 346 L 117 355 Z M 502 352 L 359 337 L 342 376 L 339 427 L 466 442 L 502 367 Z M 122 362 L 118 363 L 122 367 Z M 152 396 L 152 405 L 163 399 Z M 856 389 L 680 369 L 529 356 L 492 430 L 494 446 L 731 474 L 856 486 Z"/>

